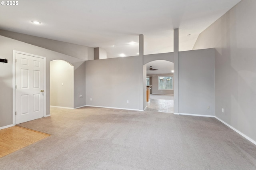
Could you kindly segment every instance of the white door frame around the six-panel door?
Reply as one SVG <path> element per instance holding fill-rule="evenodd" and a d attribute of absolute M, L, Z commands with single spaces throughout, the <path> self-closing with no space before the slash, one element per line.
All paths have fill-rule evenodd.
<path fill-rule="evenodd" d="M 46 57 L 13 50 L 12 63 L 12 125 L 16 125 L 16 53 L 44 59 L 44 117 L 46 117 Z"/>

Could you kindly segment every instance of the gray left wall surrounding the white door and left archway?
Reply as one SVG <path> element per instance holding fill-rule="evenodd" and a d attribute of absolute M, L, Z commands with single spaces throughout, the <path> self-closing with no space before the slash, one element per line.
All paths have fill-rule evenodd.
<path fill-rule="evenodd" d="M 82 81 L 85 81 L 85 72 L 82 73 L 81 71 L 78 71 L 77 73 L 76 71 L 77 69 L 84 67 L 82 65 L 85 61 L 82 59 L 0 36 L 0 58 L 8 59 L 8 63 L 0 63 L 0 127 L 12 125 L 13 50 L 46 57 L 46 115 L 50 114 L 50 61 L 62 59 L 70 62 L 72 65 L 74 65 L 74 77 L 76 77 L 76 79 L 81 78 Z M 78 86 L 81 90 L 80 92 L 85 93 L 85 89 L 80 87 L 82 85 L 75 84 L 74 87 L 76 88 L 76 86 Z M 80 93 L 76 93 L 74 96 L 80 95 Z M 85 105 L 85 98 L 80 98 L 79 100 L 80 103 Z"/>

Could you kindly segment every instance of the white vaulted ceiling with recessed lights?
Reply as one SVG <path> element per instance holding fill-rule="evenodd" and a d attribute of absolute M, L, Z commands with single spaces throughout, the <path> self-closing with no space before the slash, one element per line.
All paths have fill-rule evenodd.
<path fill-rule="evenodd" d="M 144 54 L 172 52 L 173 30 L 179 28 L 180 51 L 184 51 L 191 50 L 198 35 L 238 2 L 20 0 L 17 6 L 0 6 L 0 29 L 102 47 L 111 58 L 120 53 L 138 55 L 139 34 L 144 34 Z M 42 24 L 32 24 L 32 20 Z"/>

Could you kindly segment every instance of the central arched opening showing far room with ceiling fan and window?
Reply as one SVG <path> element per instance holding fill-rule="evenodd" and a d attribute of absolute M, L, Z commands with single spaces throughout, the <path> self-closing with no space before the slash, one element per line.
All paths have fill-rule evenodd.
<path fill-rule="evenodd" d="M 147 87 L 150 87 L 146 111 L 174 113 L 174 63 L 166 60 L 146 64 Z"/>

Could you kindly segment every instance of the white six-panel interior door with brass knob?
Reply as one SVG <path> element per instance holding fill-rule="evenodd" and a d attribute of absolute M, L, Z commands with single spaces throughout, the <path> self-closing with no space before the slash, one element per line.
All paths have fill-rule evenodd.
<path fill-rule="evenodd" d="M 16 124 L 44 117 L 44 59 L 16 53 Z"/>

